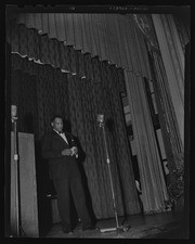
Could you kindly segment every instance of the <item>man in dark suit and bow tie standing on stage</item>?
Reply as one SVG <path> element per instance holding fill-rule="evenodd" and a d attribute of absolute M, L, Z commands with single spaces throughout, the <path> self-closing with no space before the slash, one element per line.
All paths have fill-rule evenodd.
<path fill-rule="evenodd" d="M 73 232 L 70 221 L 70 192 L 81 219 L 82 230 L 94 230 L 89 216 L 81 176 L 77 165 L 78 149 L 73 134 L 63 132 L 63 118 L 58 115 L 51 119 L 52 131 L 42 141 L 42 156 L 49 160 L 50 176 L 57 193 L 58 214 L 65 233 Z"/>

